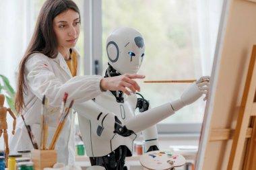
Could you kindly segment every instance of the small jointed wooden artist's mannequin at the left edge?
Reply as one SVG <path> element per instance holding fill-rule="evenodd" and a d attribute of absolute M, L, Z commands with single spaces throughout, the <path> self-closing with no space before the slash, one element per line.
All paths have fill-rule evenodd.
<path fill-rule="evenodd" d="M 3 138 L 5 140 L 5 165 L 8 167 L 8 155 L 9 155 L 9 144 L 8 144 L 8 134 L 7 134 L 7 122 L 6 122 L 6 116 L 7 112 L 11 115 L 13 118 L 13 130 L 12 134 L 15 133 L 15 126 L 16 126 L 16 117 L 11 111 L 11 108 L 5 108 L 3 107 L 3 104 L 5 103 L 5 96 L 3 94 L 0 94 L 0 137 L 3 134 Z"/>

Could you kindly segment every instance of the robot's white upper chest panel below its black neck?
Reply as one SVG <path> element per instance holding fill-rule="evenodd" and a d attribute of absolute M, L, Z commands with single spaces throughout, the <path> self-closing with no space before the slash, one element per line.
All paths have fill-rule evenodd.
<path fill-rule="evenodd" d="M 116 114 L 119 120 L 126 120 L 135 115 L 137 97 L 135 95 L 125 95 L 124 102 L 118 103 L 115 96 L 107 91 L 106 93 L 102 93 L 102 95 L 98 95 L 95 98 L 95 102 L 109 112 Z"/>

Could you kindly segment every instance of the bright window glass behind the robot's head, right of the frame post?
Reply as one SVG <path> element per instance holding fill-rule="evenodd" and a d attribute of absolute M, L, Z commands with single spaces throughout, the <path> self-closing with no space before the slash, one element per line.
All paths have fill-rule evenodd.
<path fill-rule="evenodd" d="M 145 39 L 146 55 L 139 73 L 146 75 L 146 80 L 198 79 L 210 75 L 222 1 L 201 3 L 189 0 L 102 1 L 103 71 L 107 63 L 108 34 L 116 28 L 129 26 L 139 30 Z M 211 22 L 213 18 L 217 19 Z M 207 30 L 210 27 L 211 30 Z M 209 34 L 212 37 L 207 38 Z M 203 40 L 207 44 L 202 44 Z M 147 84 L 142 81 L 140 85 L 141 94 L 150 100 L 152 108 L 178 99 L 189 86 L 187 83 Z M 201 98 L 161 123 L 201 123 L 204 108 L 205 101 Z"/>

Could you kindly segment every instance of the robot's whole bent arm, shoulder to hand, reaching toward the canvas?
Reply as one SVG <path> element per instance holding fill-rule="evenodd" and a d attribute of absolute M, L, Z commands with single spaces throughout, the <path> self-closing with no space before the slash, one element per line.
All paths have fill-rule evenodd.
<path fill-rule="evenodd" d="M 180 99 L 172 101 L 171 103 L 165 103 L 146 112 L 142 112 L 141 114 L 127 120 L 125 125 L 121 124 L 121 121 L 117 116 L 115 116 L 115 114 L 108 112 L 92 100 L 84 103 L 77 103 L 73 108 L 81 116 L 94 120 L 94 123 L 98 124 L 98 136 L 101 135 L 104 128 L 106 128 L 110 133 L 115 132 L 121 136 L 130 136 L 133 133 L 141 132 L 161 120 L 164 120 L 168 116 L 171 116 L 175 111 L 196 101 L 201 97 L 201 95 L 203 95 L 203 93 L 206 94 L 206 99 L 209 81 L 210 77 L 201 77 L 185 90 Z M 84 113 L 85 111 L 86 113 Z"/>

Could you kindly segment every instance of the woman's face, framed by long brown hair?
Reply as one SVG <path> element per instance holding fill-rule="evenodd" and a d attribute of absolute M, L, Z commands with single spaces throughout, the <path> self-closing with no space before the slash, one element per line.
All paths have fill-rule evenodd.
<path fill-rule="evenodd" d="M 79 14 L 72 9 L 60 13 L 53 19 L 53 30 L 57 36 L 59 50 L 73 48 L 80 33 Z"/>

